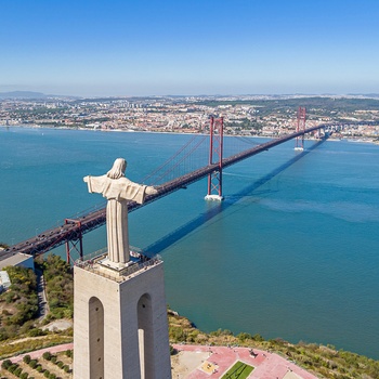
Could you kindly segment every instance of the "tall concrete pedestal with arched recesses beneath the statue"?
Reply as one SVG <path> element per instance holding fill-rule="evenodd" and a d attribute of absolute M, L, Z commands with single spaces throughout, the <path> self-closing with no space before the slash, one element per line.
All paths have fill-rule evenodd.
<path fill-rule="evenodd" d="M 74 378 L 171 378 L 164 264 L 74 269 Z"/>

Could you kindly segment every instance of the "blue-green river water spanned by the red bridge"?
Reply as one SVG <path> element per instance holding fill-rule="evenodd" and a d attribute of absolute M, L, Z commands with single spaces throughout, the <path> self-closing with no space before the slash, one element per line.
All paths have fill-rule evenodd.
<path fill-rule="evenodd" d="M 0 128 L 0 241 L 103 205 L 82 182 L 120 156 L 139 181 L 191 136 Z M 261 142 L 257 140 L 256 142 Z M 197 327 L 330 343 L 379 358 L 379 146 L 274 147 L 130 214 L 131 244 L 165 261 L 167 301 Z M 84 236 L 103 248 L 104 227 Z M 62 251 L 62 249 L 61 249 Z"/>

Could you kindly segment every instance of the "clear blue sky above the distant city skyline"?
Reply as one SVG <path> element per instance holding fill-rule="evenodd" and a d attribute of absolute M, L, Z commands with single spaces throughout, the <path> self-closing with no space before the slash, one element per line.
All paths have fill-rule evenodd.
<path fill-rule="evenodd" d="M 0 92 L 379 93 L 378 0 L 0 0 Z"/>

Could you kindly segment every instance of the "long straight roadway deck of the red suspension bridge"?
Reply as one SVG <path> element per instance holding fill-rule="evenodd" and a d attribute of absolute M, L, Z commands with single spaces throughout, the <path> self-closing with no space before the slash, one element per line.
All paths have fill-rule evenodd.
<path fill-rule="evenodd" d="M 272 140 L 269 142 L 265 142 L 263 144 L 260 144 L 258 146 L 254 146 L 252 148 L 249 148 L 247 151 L 244 151 L 241 153 L 232 155 L 227 158 L 223 159 L 223 168 L 228 167 L 233 164 L 236 164 L 243 159 L 252 157 L 256 154 L 259 154 L 261 152 L 265 152 L 269 148 L 272 148 L 274 146 L 277 146 L 286 141 L 289 141 L 291 139 L 295 139 L 297 136 L 301 136 L 302 134 L 306 134 L 313 131 L 316 131 L 318 129 L 324 129 L 329 127 L 328 125 L 319 125 L 317 127 L 308 128 L 304 131 L 300 131 L 297 133 L 288 134 L 283 138 Z M 184 174 L 182 177 L 179 177 L 172 181 L 166 182 L 162 185 L 156 186 L 158 193 L 155 195 L 148 195 L 145 198 L 145 202 L 143 205 L 139 205 L 134 201 L 129 201 L 128 204 L 128 211 L 131 212 L 135 209 L 139 209 L 149 202 L 153 202 L 160 197 L 167 196 L 168 194 L 175 192 L 181 188 L 185 188 L 187 185 L 207 177 L 209 173 L 212 173 L 214 171 L 219 170 L 219 164 L 208 165 L 204 168 L 200 168 L 198 170 L 192 171 L 187 174 Z M 22 243 L 18 243 L 16 245 L 13 245 L 9 247 L 8 249 L 3 250 L 0 253 L 0 261 L 4 260 L 6 258 L 10 258 L 14 256 L 16 252 L 23 252 L 27 254 L 31 254 L 34 257 L 37 257 L 39 254 L 42 254 L 49 250 L 52 250 L 53 248 L 56 248 L 61 245 L 64 245 L 67 240 L 78 240 L 80 237 L 80 234 L 86 234 L 88 232 L 93 231 L 94 228 L 102 226 L 105 224 L 105 217 L 106 217 L 106 208 L 102 208 L 100 210 L 90 212 L 86 215 L 82 215 L 75 220 L 67 221 L 66 224 L 63 224 L 57 227 L 50 228 L 45 232 L 42 232 L 36 237 L 26 239 Z"/>

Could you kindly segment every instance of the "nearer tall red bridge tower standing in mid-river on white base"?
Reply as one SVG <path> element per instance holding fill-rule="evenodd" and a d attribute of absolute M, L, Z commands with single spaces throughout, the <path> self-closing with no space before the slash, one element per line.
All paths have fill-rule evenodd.
<path fill-rule="evenodd" d="M 221 201 L 222 197 L 222 158 L 223 158 L 224 118 L 210 118 L 209 126 L 209 165 L 218 168 L 208 175 L 208 194 L 206 200 Z"/>

